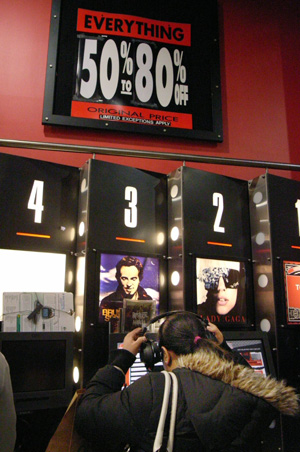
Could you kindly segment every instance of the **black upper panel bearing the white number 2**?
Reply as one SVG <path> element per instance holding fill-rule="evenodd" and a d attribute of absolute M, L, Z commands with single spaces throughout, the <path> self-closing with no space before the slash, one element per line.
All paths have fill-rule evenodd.
<path fill-rule="evenodd" d="M 182 167 L 173 184 L 181 186 L 186 252 L 250 257 L 247 181 Z"/>

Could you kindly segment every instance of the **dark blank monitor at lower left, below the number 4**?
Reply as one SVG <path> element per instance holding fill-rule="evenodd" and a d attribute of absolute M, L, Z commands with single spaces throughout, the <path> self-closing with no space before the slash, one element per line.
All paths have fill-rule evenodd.
<path fill-rule="evenodd" d="M 0 334 L 17 412 L 67 407 L 73 392 L 72 332 Z"/>

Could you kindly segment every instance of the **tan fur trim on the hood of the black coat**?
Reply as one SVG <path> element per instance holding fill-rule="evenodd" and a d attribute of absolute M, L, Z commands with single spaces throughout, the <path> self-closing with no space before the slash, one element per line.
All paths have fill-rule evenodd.
<path fill-rule="evenodd" d="M 200 372 L 256 397 L 264 399 L 285 415 L 299 414 L 299 396 L 284 381 L 264 377 L 253 369 L 220 358 L 213 351 L 199 350 L 178 358 L 178 367 Z"/>

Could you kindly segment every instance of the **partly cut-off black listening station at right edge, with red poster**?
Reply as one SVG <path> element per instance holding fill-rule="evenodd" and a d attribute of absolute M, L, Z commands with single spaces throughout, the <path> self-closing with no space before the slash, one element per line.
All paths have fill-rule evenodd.
<path fill-rule="evenodd" d="M 277 377 L 300 386 L 300 183 L 263 174 L 249 188 L 257 328 L 268 333 Z M 282 449 L 299 448 L 297 418 L 282 419 Z"/>

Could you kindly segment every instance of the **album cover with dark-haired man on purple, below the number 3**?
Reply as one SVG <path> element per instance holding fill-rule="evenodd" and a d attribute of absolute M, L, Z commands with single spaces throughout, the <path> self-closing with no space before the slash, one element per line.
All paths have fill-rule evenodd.
<path fill-rule="evenodd" d="M 101 254 L 99 322 L 120 318 L 129 303 L 152 301 L 159 311 L 159 259 L 124 254 Z M 127 303 L 127 304 L 129 304 Z"/>

